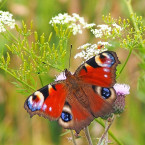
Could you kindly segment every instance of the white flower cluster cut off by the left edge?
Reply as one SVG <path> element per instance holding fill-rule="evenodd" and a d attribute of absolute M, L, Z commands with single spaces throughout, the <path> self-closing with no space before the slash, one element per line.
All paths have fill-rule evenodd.
<path fill-rule="evenodd" d="M 13 29 L 15 27 L 15 20 L 12 19 L 12 14 L 9 12 L 0 11 L 0 32 L 6 31 L 6 26 Z"/>

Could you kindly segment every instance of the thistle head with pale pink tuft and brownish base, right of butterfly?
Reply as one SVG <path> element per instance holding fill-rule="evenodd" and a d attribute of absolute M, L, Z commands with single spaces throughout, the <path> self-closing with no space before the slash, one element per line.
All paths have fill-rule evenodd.
<path fill-rule="evenodd" d="M 113 106 L 114 114 L 121 114 L 125 108 L 125 97 L 130 93 L 130 86 L 126 84 L 115 84 L 114 89 L 117 95 Z"/>

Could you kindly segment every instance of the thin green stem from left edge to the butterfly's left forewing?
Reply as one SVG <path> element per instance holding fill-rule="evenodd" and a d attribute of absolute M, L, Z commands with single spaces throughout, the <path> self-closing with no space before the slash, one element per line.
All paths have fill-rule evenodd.
<path fill-rule="evenodd" d="M 11 75 L 13 78 L 15 78 L 17 81 L 19 81 L 21 84 L 27 86 L 28 88 L 32 89 L 32 90 L 36 90 L 35 88 L 33 88 L 32 86 L 30 86 L 29 84 L 25 83 L 24 81 L 20 80 L 17 76 L 15 76 L 14 74 L 12 74 L 10 71 L 8 71 L 5 68 L 0 67 L 0 69 L 4 70 L 6 73 L 8 73 L 9 75 Z"/>

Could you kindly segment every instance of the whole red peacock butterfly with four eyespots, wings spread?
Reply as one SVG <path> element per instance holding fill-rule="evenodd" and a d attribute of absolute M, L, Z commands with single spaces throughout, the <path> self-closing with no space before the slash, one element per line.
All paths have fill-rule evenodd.
<path fill-rule="evenodd" d="M 113 85 L 119 63 L 115 52 L 104 51 L 80 65 L 74 74 L 65 69 L 65 79 L 34 92 L 24 108 L 31 117 L 37 114 L 56 120 L 63 128 L 79 133 L 94 118 L 113 111 Z"/>

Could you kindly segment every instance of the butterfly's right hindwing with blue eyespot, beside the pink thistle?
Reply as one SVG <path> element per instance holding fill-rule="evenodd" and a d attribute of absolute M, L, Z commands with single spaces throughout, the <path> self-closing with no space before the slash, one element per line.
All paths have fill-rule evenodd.
<path fill-rule="evenodd" d="M 88 96 L 90 110 L 93 116 L 105 116 L 113 111 L 113 103 L 116 93 L 113 88 L 102 88 L 98 86 L 85 85 L 84 94 Z"/>

